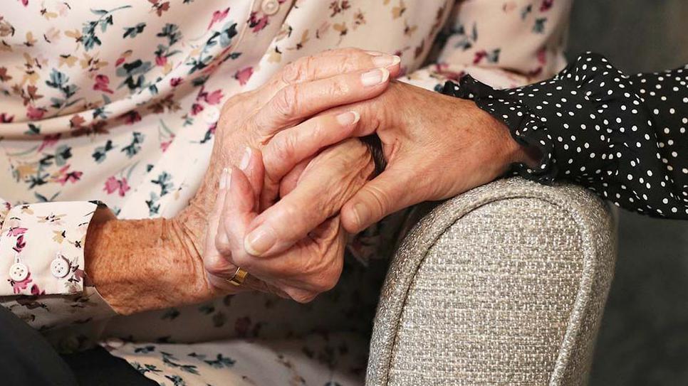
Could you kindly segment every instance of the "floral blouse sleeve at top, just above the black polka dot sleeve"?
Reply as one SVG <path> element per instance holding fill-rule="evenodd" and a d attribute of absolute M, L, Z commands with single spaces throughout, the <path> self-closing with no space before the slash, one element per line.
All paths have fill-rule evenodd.
<path fill-rule="evenodd" d="M 441 48 L 432 55 L 437 60 L 402 80 L 433 90 L 465 74 L 499 88 L 551 77 L 566 64 L 563 51 L 572 2 L 455 1 L 434 45 Z"/>

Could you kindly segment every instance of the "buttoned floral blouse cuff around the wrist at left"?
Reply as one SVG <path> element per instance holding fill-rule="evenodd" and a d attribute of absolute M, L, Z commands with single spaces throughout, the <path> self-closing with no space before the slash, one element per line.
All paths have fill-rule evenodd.
<path fill-rule="evenodd" d="M 0 198 L 0 306 L 38 329 L 113 315 L 88 282 L 83 247 L 89 201 L 11 205 Z"/>

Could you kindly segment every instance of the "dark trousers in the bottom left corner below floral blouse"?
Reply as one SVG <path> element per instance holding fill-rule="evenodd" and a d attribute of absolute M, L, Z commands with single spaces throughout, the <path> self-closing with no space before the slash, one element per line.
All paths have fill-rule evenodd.
<path fill-rule="evenodd" d="M 157 385 L 103 348 L 60 355 L 40 333 L 0 306 L 0 385 Z"/>

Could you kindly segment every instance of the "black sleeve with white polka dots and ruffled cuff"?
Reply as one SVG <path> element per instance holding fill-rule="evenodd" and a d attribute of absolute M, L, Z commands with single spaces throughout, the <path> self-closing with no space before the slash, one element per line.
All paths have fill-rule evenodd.
<path fill-rule="evenodd" d="M 550 80 L 494 90 L 469 75 L 442 92 L 471 99 L 536 146 L 536 168 L 513 173 L 550 183 L 573 181 L 615 205 L 688 219 L 688 65 L 625 75 L 586 53 Z"/>

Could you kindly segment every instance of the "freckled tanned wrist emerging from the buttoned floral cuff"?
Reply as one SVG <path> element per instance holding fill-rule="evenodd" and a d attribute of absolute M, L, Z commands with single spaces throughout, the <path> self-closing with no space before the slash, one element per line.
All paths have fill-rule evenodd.
<path fill-rule="evenodd" d="M 88 230 L 86 274 L 118 313 L 208 299 L 202 265 L 177 220 L 106 220 Z"/>

